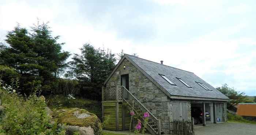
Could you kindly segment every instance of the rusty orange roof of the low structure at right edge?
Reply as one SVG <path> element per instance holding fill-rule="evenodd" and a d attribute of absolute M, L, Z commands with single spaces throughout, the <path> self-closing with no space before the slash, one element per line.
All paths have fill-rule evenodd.
<path fill-rule="evenodd" d="M 256 117 L 256 103 L 239 103 L 237 115 Z"/>

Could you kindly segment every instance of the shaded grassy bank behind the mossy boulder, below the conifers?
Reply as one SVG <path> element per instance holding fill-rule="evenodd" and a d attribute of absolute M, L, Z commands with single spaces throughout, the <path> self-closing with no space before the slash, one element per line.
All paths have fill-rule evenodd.
<path fill-rule="evenodd" d="M 46 97 L 49 108 L 81 108 L 94 113 L 101 119 L 101 102 L 76 97 L 76 99 L 67 99 L 63 95 L 52 95 Z"/>

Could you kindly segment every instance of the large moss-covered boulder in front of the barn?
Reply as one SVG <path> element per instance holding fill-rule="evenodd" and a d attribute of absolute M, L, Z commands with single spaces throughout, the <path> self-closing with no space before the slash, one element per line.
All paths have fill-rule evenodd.
<path fill-rule="evenodd" d="M 80 135 L 102 135 L 102 126 L 98 117 L 85 109 L 60 109 L 53 114 L 58 125 L 66 130 L 66 135 L 79 132 Z"/>

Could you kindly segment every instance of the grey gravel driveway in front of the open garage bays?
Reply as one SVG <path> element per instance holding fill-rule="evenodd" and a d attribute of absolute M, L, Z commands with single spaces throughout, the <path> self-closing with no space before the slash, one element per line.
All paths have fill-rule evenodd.
<path fill-rule="evenodd" d="M 256 124 L 225 122 L 195 129 L 196 135 L 256 135 Z"/>

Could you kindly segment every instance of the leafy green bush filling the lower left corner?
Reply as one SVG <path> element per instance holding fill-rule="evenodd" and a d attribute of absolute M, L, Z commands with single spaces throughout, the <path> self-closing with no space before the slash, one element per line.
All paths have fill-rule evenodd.
<path fill-rule="evenodd" d="M 45 97 L 36 93 L 22 98 L 14 92 L 0 87 L 0 99 L 4 112 L 0 116 L 0 134 L 6 135 L 65 135 L 57 124 L 50 123 Z"/>

